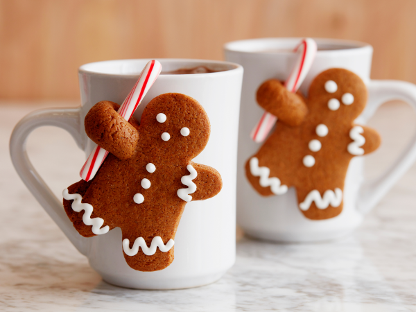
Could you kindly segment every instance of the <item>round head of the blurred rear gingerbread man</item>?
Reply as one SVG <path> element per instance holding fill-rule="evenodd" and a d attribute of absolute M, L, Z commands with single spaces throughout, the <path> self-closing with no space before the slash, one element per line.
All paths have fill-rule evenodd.
<path fill-rule="evenodd" d="M 352 121 L 363 112 L 367 89 L 363 80 L 347 69 L 320 73 L 309 89 L 309 107 L 340 121 Z"/>

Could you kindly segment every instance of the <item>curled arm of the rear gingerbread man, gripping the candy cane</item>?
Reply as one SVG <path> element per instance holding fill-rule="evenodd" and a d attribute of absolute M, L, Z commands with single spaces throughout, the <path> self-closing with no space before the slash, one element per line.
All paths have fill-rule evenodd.
<path fill-rule="evenodd" d="M 257 90 L 257 103 L 288 125 L 300 125 L 308 113 L 302 96 L 289 92 L 279 80 L 270 79 Z"/>

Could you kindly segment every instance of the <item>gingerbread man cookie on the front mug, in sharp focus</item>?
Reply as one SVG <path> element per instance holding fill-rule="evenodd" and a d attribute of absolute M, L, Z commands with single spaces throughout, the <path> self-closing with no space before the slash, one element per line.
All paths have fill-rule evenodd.
<path fill-rule="evenodd" d="M 187 202 L 216 196 L 222 187 L 214 168 L 191 161 L 207 145 L 209 119 L 196 100 L 174 93 L 153 98 L 140 125 L 118 109 L 102 101 L 85 116 L 88 137 L 110 155 L 93 180 L 64 190 L 64 209 L 85 237 L 120 227 L 131 268 L 162 270 L 173 261 Z"/>

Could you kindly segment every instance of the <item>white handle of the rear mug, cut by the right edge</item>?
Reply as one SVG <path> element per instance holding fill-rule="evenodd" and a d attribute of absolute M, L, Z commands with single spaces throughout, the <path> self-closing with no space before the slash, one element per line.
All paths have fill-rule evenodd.
<path fill-rule="evenodd" d="M 397 80 L 370 80 L 368 103 L 360 121 L 366 122 L 381 104 L 401 100 L 416 110 L 416 85 Z M 381 200 L 385 193 L 406 173 L 416 159 L 416 134 L 395 162 L 378 178 L 365 182 L 358 196 L 357 209 L 367 214 Z"/>

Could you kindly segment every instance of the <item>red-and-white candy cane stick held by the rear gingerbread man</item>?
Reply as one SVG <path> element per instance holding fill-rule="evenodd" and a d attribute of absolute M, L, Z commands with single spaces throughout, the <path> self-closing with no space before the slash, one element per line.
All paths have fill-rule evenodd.
<path fill-rule="evenodd" d="M 313 59 L 316 55 L 316 50 L 316 42 L 311 38 L 305 38 L 298 46 L 296 46 L 294 51 L 300 52 L 299 57 L 296 60 L 295 67 L 292 69 L 291 75 L 284 83 L 284 86 L 290 92 L 297 92 L 297 89 L 299 89 L 300 85 L 302 85 L 306 74 L 309 69 L 311 69 Z M 270 114 L 269 112 L 264 112 L 259 123 L 257 123 L 256 127 L 252 130 L 250 137 L 257 143 L 264 141 L 276 121 L 277 116 Z"/>

